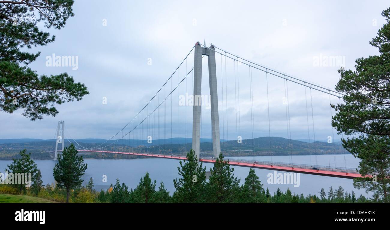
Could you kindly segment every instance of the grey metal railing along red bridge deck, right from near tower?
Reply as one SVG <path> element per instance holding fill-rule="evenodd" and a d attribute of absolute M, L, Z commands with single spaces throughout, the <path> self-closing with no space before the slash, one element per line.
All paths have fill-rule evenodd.
<path fill-rule="evenodd" d="M 201 159 L 215 160 L 216 158 L 202 157 Z M 345 167 L 330 167 L 324 165 L 308 165 L 308 164 L 290 164 L 290 163 L 283 163 L 283 162 L 270 162 L 270 161 L 260 161 L 260 160 L 246 160 L 246 159 L 243 160 L 237 158 L 225 158 L 225 160 L 229 160 L 232 162 L 248 163 L 248 164 L 274 165 L 274 166 L 294 167 L 294 168 L 301 168 L 301 169 L 317 169 L 317 170 L 333 171 L 333 172 L 357 173 L 356 169 L 345 168 Z"/>

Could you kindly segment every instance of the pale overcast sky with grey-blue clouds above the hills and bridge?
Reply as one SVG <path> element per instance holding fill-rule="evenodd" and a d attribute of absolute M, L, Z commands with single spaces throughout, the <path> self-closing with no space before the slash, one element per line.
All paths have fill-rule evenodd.
<path fill-rule="evenodd" d="M 46 75 L 67 72 L 75 81 L 84 83 L 90 94 L 82 101 L 57 106 L 60 113 L 56 117 L 34 122 L 23 117 L 23 111 L 0 113 L 0 138 L 53 138 L 58 120 L 65 121 L 66 137 L 110 138 L 158 92 L 197 41 L 203 44 L 206 40 L 207 46 L 213 43 L 269 68 L 334 88 L 340 66 L 316 66 L 316 58 L 340 56 L 342 60 L 345 58 L 342 64 L 353 69 L 356 58 L 378 54 L 369 41 L 385 23 L 381 11 L 387 7 L 388 1 L 76 1 L 75 16 L 65 28 L 50 29 L 56 36 L 55 42 L 31 50 L 41 51 L 41 56 L 30 67 Z M 77 56 L 78 68 L 46 66 L 46 56 L 53 54 Z M 238 66 L 240 116 L 236 123 L 234 63 L 227 60 L 226 75 L 224 58 L 221 74 L 219 54 L 216 65 L 221 138 L 235 139 L 240 128 L 243 138 L 251 138 L 252 117 L 254 136 L 268 136 L 265 74 L 252 70 L 252 115 L 248 66 Z M 203 59 L 203 66 L 202 93 L 207 94 L 207 58 Z M 192 67 L 190 54 L 172 77 L 173 88 L 186 75 L 186 69 Z M 180 137 L 186 136 L 186 130 L 190 137 L 192 109 L 188 107 L 185 116 L 185 106 L 179 107 L 178 125 L 177 103 L 178 95 L 185 94 L 186 88 L 191 93 L 191 77 L 189 74 L 179 92 L 174 92 L 172 106 L 170 98 L 165 103 L 166 130 L 162 104 L 160 122 L 156 110 L 143 133 L 138 129 L 138 138 L 154 135 L 157 139 L 164 134 L 169 138 L 171 133 L 177 137 L 177 127 Z M 222 81 L 227 88 L 221 87 Z M 272 135 L 287 137 L 284 81 L 269 75 L 268 84 Z M 165 93 L 170 92 L 170 87 L 169 81 Z M 291 137 L 307 139 L 305 89 L 288 83 L 288 90 Z M 225 92 L 223 101 L 222 92 Z M 160 99 L 152 101 L 154 108 L 163 94 L 161 91 Z M 312 98 L 316 139 L 324 140 L 332 135 L 329 97 L 313 91 Z M 309 99 L 309 135 L 313 138 Z M 337 100 L 331 97 L 332 103 Z M 147 107 L 144 116 L 153 106 Z M 202 137 L 210 138 L 210 110 L 203 108 L 202 114 Z M 142 120 L 142 113 L 139 119 Z"/>

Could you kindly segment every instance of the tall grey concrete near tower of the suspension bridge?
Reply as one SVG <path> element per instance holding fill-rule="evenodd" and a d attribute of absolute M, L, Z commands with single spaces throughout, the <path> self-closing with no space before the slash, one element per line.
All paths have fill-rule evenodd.
<path fill-rule="evenodd" d="M 213 134 L 213 156 L 218 157 L 221 153 L 220 129 L 218 117 L 218 94 L 217 94 L 217 76 L 215 65 L 215 48 L 213 45 L 209 49 L 201 47 L 199 42 L 195 44 L 194 60 L 194 104 L 192 120 L 192 149 L 199 161 L 200 156 L 200 111 L 202 101 L 202 55 L 208 56 L 209 65 L 209 84 L 211 96 L 211 129 Z"/>

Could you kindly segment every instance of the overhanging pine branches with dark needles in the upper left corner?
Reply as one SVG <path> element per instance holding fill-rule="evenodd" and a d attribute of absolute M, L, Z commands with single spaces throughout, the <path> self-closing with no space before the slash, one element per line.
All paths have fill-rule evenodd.
<path fill-rule="evenodd" d="M 42 115 L 58 114 L 54 104 L 79 101 L 89 94 L 84 84 L 74 83 L 66 73 L 38 76 L 27 67 L 40 55 L 28 49 L 55 40 L 41 31 L 38 23 L 61 29 L 74 15 L 72 5 L 73 0 L 0 2 L 0 110 L 12 113 L 23 109 L 25 117 L 42 119 Z"/>

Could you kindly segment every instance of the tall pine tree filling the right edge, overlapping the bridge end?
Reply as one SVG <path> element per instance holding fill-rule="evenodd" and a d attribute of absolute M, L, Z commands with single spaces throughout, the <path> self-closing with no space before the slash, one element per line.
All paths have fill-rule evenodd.
<path fill-rule="evenodd" d="M 355 71 L 339 70 L 341 79 L 336 90 L 344 93 L 345 104 L 332 105 L 337 114 L 332 126 L 340 133 L 358 137 L 342 140 L 342 145 L 360 158 L 359 173 L 376 175 L 358 177 L 357 189 L 373 191 L 383 202 L 389 202 L 390 191 L 390 8 L 382 12 L 386 24 L 370 44 L 379 55 L 358 58 Z"/>

